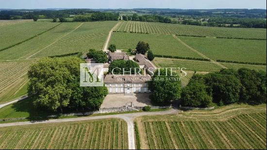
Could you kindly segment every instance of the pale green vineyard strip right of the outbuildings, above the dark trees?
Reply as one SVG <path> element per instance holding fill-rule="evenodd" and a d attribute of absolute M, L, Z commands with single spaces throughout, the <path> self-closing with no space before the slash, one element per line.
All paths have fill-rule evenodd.
<path fill-rule="evenodd" d="M 185 67 L 190 71 L 219 71 L 221 67 L 205 61 L 182 60 L 182 59 L 168 59 L 168 58 L 155 58 L 153 63 L 157 67 Z"/>

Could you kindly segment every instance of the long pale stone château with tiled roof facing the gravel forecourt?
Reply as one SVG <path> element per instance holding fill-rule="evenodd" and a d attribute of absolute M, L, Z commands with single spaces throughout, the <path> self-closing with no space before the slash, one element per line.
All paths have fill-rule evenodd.
<path fill-rule="evenodd" d="M 150 80 L 150 75 L 107 74 L 104 83 L 110 94 L 132 95 L 133 93 L 150 93 L 148 89 Z"/>

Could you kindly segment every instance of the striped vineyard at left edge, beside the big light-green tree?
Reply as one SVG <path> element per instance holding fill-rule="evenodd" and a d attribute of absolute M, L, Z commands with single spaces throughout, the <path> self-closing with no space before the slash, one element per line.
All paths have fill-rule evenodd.
<path fill-rule="evenodd" d="M 27 71 L 32 63 L 0 62 L 0 104 L 26 94 Z"/>

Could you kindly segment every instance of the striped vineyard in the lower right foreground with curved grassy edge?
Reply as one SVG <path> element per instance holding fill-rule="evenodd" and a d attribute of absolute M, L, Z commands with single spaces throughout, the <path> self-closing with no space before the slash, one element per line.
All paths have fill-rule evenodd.
<path fill-rule="evenodd" d="M 136 122 L 141 149 L 266 149 L 266 115 L 266 105 L 230 105 Z"/>

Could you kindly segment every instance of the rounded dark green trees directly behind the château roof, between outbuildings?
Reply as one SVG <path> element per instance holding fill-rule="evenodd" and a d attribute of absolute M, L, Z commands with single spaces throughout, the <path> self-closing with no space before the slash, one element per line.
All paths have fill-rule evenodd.
<path fill-rule="evenodd" d="M 137 63 L 135 63 L 134 61 L 132 60 L 114 60 L 109 68 L 108 68 L 108 72 L 109 73 L 112 73 L 112 70 L 113 70 L 113 73 L 114 74 L 123 74 L 123 68 L 124 68 L 124 74 L 130 74 L 130 71 L 131 71 L 131 74 L 136 74 L 138 73 L 140 69 L 139 65 Z M 135 72 L 136 70 L 136 72 Z M 142 70 L 140 71 L 140 73 L 142 73 Z"/>

